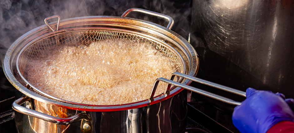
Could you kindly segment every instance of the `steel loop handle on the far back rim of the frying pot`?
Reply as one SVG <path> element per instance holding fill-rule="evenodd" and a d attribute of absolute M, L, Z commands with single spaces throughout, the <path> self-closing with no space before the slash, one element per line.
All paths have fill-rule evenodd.
<path fill-rule="evenodd" d="M 148 15 L 153 15 L 153 16 L 160 17 L 160 18 L 164 18 L 165 20 L 169 21 L 169 24 L 167 25 L 166 28 L 171 29 L 171 27 L 174 25 L 174 19 L 171 18 L 170 16 L 167 16 L 167 15 L 161 14 L 161 13 L 152 12 L 152 11 L 145 10 L 145 9 L 141 9 L 141 8 L 130 8 L 127 11 L 125 11 L 124 14 L 121 15 L 121 17 L 125 17 L 130 12 L 133 12 L 133 11 L 134 12 L 145 13 L 145 14 L 148 14 Z"/>

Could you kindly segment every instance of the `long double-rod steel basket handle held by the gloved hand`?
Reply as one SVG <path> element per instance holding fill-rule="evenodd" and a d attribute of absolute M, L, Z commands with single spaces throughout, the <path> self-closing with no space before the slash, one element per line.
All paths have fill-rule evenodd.
<path fill-rule="evenodd" d="M 189 85 L 185 85 L 185 84 L 175 82 L 175 81 L 173 81 L 175 76 L 180 76 L 180 77 L 183 77 L 185 79 L 189 79 L 189 80 L 201 83 L 201 84 L 206 84 L 206 85 L 209 85 L 209 86 L 221 89 L 221 90 L 225 90 L 225 91 L 228 91 L 228 92 L 231 92 L 231 93 L 246 97 L 246 92 L 244 92 L 244 91 L 236 90 L 236 89 L 226 87 L 226 86 L 221 85 L 221 84 L 216 84 L 216 83 L 213 83 L 213 82 L 210 82 L 210 81 L 206 81 L 204 79 L 199 79 L 199 78 L 192 77 L 192 76 L 189 76 L 189 75 L 186 75 L 186 74 L 175 72 L 175 73 L 172 74 L 170 80 L 165 79 L 165 78 L 158 78 L 158 79 L 155 80 L 155 84 L 153 86 L 153 89 L 152 89 L 149 100 L 153 100 L 157 85 L 158 85 L 159 81 L 162 81 L 162 82 L 168 83 L 167 90 L 165 91 L 164 94 L 167 94 L 169 92 L 170 86 L 172 84 L 172 85 L 179 86 L 181 88 L 184 88 L 184 89 L 191 90 L 193 92 L 199 93 L 201 95 L 205 95 L 205 96 L 208 96 L 210 98 L 220 100 L 222 102 L 225 102 L 225 103 L 228 103 L 228 104 L 231 104 L 231 105 L 241 105 L 241 102 L 236 102 L 234 100 L 228 99 L 228 98 L 220 96 L 220 95 L 213 94 L 213 93 L 205 91 L 205 90 L 201 90 L 201 89 L 189 86 Z"/>

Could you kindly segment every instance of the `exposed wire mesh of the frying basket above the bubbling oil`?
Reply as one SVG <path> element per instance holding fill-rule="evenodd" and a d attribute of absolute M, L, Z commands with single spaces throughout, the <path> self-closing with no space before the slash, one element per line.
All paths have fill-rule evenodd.
<path fill-rule="evenodd" d="M 177 52 L 174 49 L 171 49 L 169 44 L 164 41 L 154 40 L 134 33 L 101 29 L 63 30 L 39 37 L 24 47 L 20 53 L 20 56 L 18 57 L 18 70 L 22 75 L 21 77 L 26 79 L 28 64 L 32 60 L 38 58 L 39 55 L 44 54 L 49 50 L 56 49 L 62 45 L 87 46 L 94 41 L 113 38 L 126 39 L 134 43 L 147 43 L 163 53 L 164 56 L 169 57 L 171 61 L 179 66 L 181 73 L 185 70 L 185 68 L 183 68 L 184 61 L 180 58 L 181 55 L 177 54 Z"/>

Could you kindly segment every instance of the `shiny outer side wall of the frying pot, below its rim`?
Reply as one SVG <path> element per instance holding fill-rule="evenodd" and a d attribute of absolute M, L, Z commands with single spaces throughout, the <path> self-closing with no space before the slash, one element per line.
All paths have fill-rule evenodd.
<path fill-rule="evenodd" d="M 181 91 L 175 96 L 163 100 L 162 102 L 129 110 L 120 111 L 97 111 L 88 112 L 92 120 L 92 133 L 151 133 L 151 132 L 166 132 L 166 133 L 183 133 L 187 121 L 187 93 Z M 26 105 L 25 102 L 23 106 Z M 66 109 L 54 105 L 34 100 L 38 112 L 58 115 L 56 111 Z M 63 111 L 68 116 L 70 114 L 80 114 L 84 111 L 69 110 Z M 76 121 L 68 125 L 54 124 L 36 117 L 16 113 L 16 125 L 19 133 L 86 133 L 83 130 L 84 120 Z"/>

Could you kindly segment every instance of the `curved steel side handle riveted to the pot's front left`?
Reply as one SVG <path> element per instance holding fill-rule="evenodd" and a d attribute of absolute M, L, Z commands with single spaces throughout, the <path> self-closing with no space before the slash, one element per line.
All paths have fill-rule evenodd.
<path fill-rule="evenodd" d="M 73 122 L 85 119 L 85 120 L 90 120 L 90 117 L 88 114 L 86 113 L 80 113 L 77 115 L 73 115 L 71 117 L 68 118 L 58 118 L 58 117 L 54 117 L 51 115 L 47 115 L 47 114 L 43 114 L 41 112 L 38 112 L 36 110 L 31 110 L 28 108 L 25 108 L 23 106 L 21 106 L 24 102 L 26 101 L 30 101 L 31 99 L 28 97 L 22 97 L 19 98 L 18 100 L 15 100 L 12 104 L 12 108 L 13 110 L 25 114 L 25 115 L 29 115 L 29 116 L 33 116 L 42 120 L 46 120 L 55 124 L 60 124 L 60 125 L 68 125 L 71 124 Z"/>

